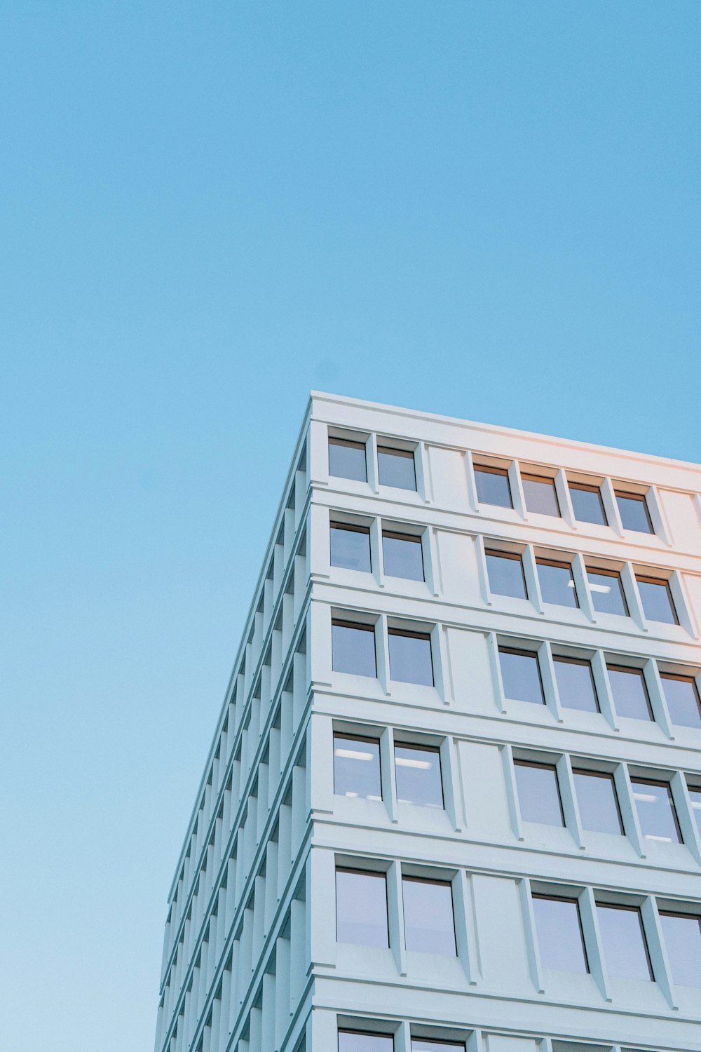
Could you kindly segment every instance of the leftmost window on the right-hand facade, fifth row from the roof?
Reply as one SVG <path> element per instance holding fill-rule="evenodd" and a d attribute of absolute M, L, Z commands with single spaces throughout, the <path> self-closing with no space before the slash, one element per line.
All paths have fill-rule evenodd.
<path fill-rule="evenodd" d="M 389 946 L 384 873 L 336 869 L 336 940 Z"/>

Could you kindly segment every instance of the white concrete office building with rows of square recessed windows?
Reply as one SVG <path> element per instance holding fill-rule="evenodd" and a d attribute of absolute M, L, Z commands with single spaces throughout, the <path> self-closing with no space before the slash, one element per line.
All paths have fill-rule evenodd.
<path fill-rule="evenodd" d="M 693 464 L 312 396 L 157 1052 L 701 1049 L 700 492 Z"/>

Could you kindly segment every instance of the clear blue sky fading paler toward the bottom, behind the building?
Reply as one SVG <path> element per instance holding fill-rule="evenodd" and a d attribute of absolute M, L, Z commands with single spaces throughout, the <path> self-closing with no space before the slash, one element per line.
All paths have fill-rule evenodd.
<path fill-rule="evenodd" d="M 0 1046 L 150 1052 L 309 389 L 701 459 L 701 4 L 0 18 Z"/>

